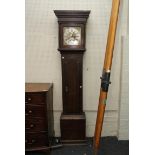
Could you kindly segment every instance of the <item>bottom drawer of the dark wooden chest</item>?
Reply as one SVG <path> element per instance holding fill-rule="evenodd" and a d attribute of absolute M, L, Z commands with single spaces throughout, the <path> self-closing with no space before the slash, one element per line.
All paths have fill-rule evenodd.
<path fill-rule="evenodd" d="M 48 145 L 47 133 L 26 133 L 25 135 L 26 148 L 43 147 Z"/>

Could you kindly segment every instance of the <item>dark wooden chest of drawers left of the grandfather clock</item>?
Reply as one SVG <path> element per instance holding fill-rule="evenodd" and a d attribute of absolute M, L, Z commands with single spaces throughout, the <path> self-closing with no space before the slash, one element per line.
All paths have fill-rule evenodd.
<path fill-rule="evenodd" d="M 54 136 L 53 84 L 25 84 L 26 151 L 49 150 Z"/>

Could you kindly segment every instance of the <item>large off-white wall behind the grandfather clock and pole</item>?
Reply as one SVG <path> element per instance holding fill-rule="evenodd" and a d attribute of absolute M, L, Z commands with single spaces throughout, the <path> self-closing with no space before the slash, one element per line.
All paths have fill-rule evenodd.
<path fill-rule="evenodd" d="M 26 82 L 54 83 L 56 136 L 60 136 L 62 79 L 60 53 L 57 51 L 58 23 L 53 10 L 91 10 L 86 32 L 87 51 L 83 59 L 83 104 L 87 119 L 86 133 L 87 136 L 93 136 L 111 5 L 112 0 L 26 0 L 25 78 Z M 122 27 L 123 32 L 127 28 L 127 22 L 122 22 L 122 8 L 121 6 L 111 74 L 112 85 L 109 88 L 102 136 L 117 136 L 121 131 L 121 36 Z"/>

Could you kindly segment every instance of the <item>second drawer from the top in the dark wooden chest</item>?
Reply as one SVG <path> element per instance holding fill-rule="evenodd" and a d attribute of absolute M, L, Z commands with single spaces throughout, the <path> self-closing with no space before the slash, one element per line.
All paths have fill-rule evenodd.
<path fill-rule="evenodd" d="M 41 117 L 46 118 L 47 107 L 46 105 L 26 105 L 25 115 L 28 117 Z"/>

